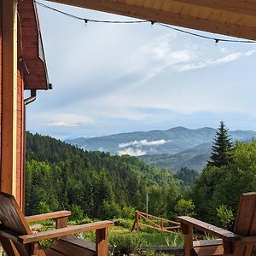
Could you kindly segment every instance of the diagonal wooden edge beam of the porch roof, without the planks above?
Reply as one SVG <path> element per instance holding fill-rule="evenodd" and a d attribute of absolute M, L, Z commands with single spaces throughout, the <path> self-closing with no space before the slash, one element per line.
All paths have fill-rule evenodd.
<path fill-rule="evenodd" d="M 229 22 L 202 19 L 191 15 L 164 12 L 160 9 L 151 9 L 113 0 L 49 0 L 86 9 L 125 15 L 143 20 L 154 20 L 174 26 L 189 27 L 206 32 L 224 34 L 231 37 L 256 40 L 256 27 L 239 26 Z M 171 0 L 169 0 L 171 1 Z M 185 0 L 184 0 L 185 1 Z M 189 0 L 188 0 L 189 1 Z M 209 0 L 210 1 L 210 0 Z M 234 0 L 235 1 L 235 0 Z M 191 0 L 191 2 L 193 2 Z M 199 3 L 200 1 L 195 1 Z M 214 2 L 214 1 L 213 1 Z M 220 2 L 220 1 L 219 1 Z M 241 2 L 241 1 L 240 1 Z M 239 14 L 238 14 L 239 15 Z M 255 17 L 255 15 L 253 15 Z"/>

